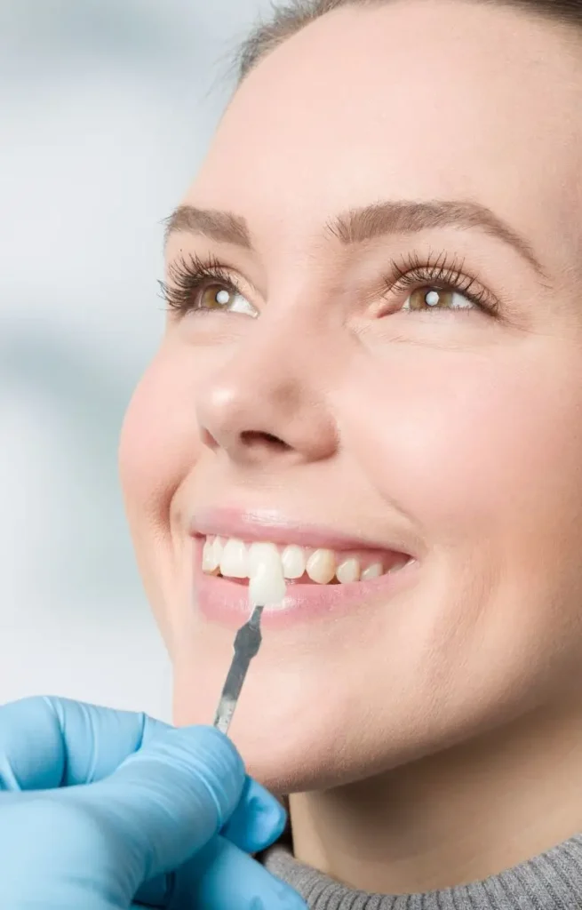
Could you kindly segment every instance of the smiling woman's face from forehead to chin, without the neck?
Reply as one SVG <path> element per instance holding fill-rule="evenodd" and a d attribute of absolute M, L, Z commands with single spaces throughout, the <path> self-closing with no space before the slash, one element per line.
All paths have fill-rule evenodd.
<path fill-rule="evenodd" d="M 365 574 L 266 611 L 232 733 L 281 792 L 579 691 L 577 42 L 501 7 L 342 8 L 248 76 L 174 218 L 121 464 L 176 723 L 212 721 L 246 615 L 206 535 Z"/>

